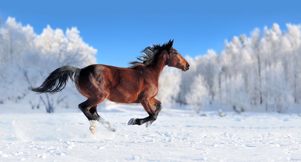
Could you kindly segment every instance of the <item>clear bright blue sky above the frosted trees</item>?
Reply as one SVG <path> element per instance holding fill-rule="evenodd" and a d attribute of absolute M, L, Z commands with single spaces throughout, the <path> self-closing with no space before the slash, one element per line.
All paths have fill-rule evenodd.
<path fill-rule="evenodd" d="M 127 67 L 153 43 L 174 39 L 174 48 L 194 58 L 221 52 L 226 39 L 258 27 L 301 23 L 301 1 L 14 1 L 0 4 L 2 22 L 15 17 L 40 34 L 77 27 L 98 50 L 97 63 Z"/>

